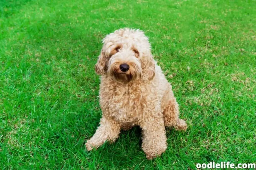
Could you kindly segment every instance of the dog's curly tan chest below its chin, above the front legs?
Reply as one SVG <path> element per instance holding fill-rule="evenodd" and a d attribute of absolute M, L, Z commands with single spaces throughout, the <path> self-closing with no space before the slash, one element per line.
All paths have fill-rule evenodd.
<path fill-rule="evenodd" d="M 119 122 L 137 122 L 145 103 L 142 88 L 115 87 L 100 91 L 100 104 L 105 114 Z"/>

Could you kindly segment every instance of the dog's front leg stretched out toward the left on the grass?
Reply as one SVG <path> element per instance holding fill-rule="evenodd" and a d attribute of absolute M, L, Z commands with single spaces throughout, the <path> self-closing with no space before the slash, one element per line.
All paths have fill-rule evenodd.
<path fill-rule="evenodd" d="M 88 151 L 93 148 L 97 149 L 105 141 L 114 142 L 120 133 L 121 125 L 112 118 L 102 116 L 100 126 L 96 130 L 93 137 L 86 142 L 86 149 Z"/>

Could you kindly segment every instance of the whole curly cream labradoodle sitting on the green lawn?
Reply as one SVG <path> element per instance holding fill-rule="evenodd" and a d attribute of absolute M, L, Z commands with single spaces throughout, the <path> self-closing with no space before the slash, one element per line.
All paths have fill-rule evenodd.
<path fill-rule="evenodd" d="M 105 141 L 114 142 L 121 131 L 142 128 L 142 149 L 147 159 L 167 148 L 165 126 L 186 130 L 172 86 L 151 54 L 140 30 L 119 29 L 103 39 L 95 71 L 101 75 L 100 126 L 86 142 L 88 151 Z"/>

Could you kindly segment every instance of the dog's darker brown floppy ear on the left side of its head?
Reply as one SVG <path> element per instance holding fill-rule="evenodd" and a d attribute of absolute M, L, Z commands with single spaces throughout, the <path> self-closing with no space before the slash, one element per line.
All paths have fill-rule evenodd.
<path fill-rule="evenodd" d="M 98 75 L 104 75 L 106 73 L 106 71 L 108 70 L 108 68 L 106 66 L 106 62 L 107 62 L 106 52 L 103 51 L 103 49 L 102 49 L 100 56 L 98 57 L 98 61 L 95 64 L 95 72 Z"/>

